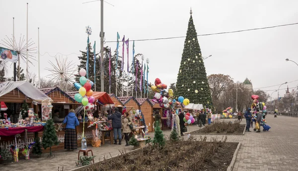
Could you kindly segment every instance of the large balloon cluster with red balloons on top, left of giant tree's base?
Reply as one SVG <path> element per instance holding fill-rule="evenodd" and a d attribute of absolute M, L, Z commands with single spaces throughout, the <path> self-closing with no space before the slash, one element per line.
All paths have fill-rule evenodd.
<path fill-rule="evenodd" d="M 154 103 L 158 103 L 162 108 L 174 108 L 175 106 L 183 103 L 185 106 L 189 104 L 189 99 L 184 99 L 184 97 L 178 97 L 178 102 L 173 99 L 174 91 L 172 89 L 166 90 L 167 85 L 161 83 L 159 78 L 155 79 L 154 85 L 151 83 L 148 86 L 155 92 L 154 99 L 152 100 Z"/>

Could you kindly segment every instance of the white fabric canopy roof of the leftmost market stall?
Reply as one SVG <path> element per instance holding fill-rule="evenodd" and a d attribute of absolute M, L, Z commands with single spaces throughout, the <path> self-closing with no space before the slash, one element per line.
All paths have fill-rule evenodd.
<path fill-rule="evenodd" d="M 43 100 L 50 100 L 52 99 L 45 95 L 42 91 L 38 90 L 34 87 L 31 83 L 27 81 L 5 81 L 0 83 L 0 97 L 11 92 L 17 88 L 27 97 L 35 100 L 35 101 L 43 101 Z"/>

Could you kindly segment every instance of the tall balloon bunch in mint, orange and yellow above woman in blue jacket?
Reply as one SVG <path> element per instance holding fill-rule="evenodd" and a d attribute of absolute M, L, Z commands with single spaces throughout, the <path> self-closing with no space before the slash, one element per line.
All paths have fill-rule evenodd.
<path fill-rule="evenodd" d="M 94 83 L 86 79 L 86 70 L 84 68 L 79 70 L 79 75 L 81 76 L 79 83 L 74 83 L 75 89 L 78 90 L 78 93 L 74 95 L 74 99 L 76 102 L 82 103 L 86 111 L 91 111 L 94 109 L 93 103 L 95 101 L 95 98 L 92 96 L 93 91 L 91 90 Z"/>

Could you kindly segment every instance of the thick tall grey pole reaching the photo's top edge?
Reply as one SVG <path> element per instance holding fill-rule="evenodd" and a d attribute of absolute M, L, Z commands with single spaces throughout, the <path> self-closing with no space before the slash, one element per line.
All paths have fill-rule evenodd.
<path fill-rule="evenodd" d="M 103 82 L 103 0 L 100 0 L 100 88 L 101 92 L 104 92 L 104 82 Z"/>

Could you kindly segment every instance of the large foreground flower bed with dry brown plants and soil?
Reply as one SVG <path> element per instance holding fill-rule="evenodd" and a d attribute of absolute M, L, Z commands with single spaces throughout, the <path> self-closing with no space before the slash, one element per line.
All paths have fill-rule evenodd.
<path fill-rule="evenodd" d="M 187 141 L 167 141 L 162 149 L 149 147 L 123 153 L 91 165 L 83 171 L 226 171 L 238 143 L 207 137 Z"/>

